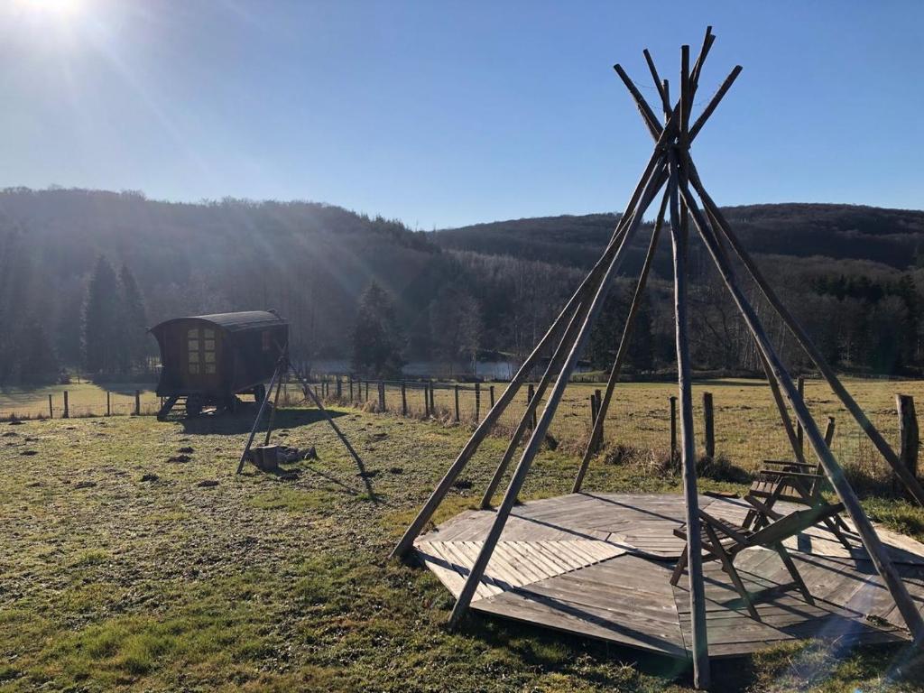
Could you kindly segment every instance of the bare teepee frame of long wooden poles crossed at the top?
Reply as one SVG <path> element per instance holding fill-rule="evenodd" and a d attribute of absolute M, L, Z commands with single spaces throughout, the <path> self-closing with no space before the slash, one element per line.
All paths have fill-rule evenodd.
<path fill-rule="evenodd" d="M 626 89 L 636 103 L 645 127 L 648 128 L 651 138 L 655 142 L 654 152 L 651 154 L 649 163 L 646 165 L 644 173 L 626 204 L 626 210 L 620 217 L 619 223 L 614 230 L 613 237 L 611 237 L 609 244 L 603 251 L 600 260 L 591 268 L 590 273 L 587 274 L 581 285 L 577 287 L 577 291 L 568 300 L 564 310 L 562 310 L 555 319 L 549 331 L 541 338 L 539 344 L 537 344 L 529 355 L 529 358 L 523 362 L 523 365 L 505 389 L 504 394 L 500 396 L 485 419 L 481 421 L 478 428 L 472 433 L 468 443 L 456 457 L 456 461 L 446 471 L 444 478 L 436 485 L 432 495 L 420 509 L 418 516 L 408 526 L 404 536 L 397 543 L 392 552 L 393 557 L 404 558 L 407 556 L 407 553 L 411 551 L 414 541 L 431 520 L 433 513 L 442 503 L 446 493 L 449 491 L 449 488 L 452 486 L 459 473 L 466 467 L 471 456 L 478 450 L 481 442 L 492 430 L 493 425 L 500 418 L 506 407 L 513 401 L 519 388 L 539 362 L 541 353 L 548 347 L 554 346 L 552 358 L 549 359 L 548 366 L 542 374 L 541 380 L 536 388 L 536 395 L 530 400 L 526 411 L 523 413 L 517 425 L 517 429 L 505 450 L 504 456 L 482 498 L 482 507 L 490 507 L 494 492 L 496 492 L 510 462 L 513 460 L 518 445 L 531 427 L 534 412 L 539 406 L 539 402 L 546 396 L 546 392 L 551 387 L 551 391 L 546 397 L 545 407 L 536 425 L 532 427 L 529 441 L 526 443 L 519 462 L 517 463 L 517 467 L 511 476 L 504 498 L 501 504 L 497 506 L 496 515 L 488 536 L 485 538 L 479 556 L 475 561 L 475 565 L 471 568 L 465 586 L 456 600 L 456 605 L 450 616 L 449 624 L 451 627 L 457 626 L 461 618 L 468 611 L 469 603 L 475 594 L 481 577 L 484 575 L 484 571 L 491 559 L 494 547 L 504 530 L 505 523 L 510 516 L 513 505 L 517 501 L 517 494 L 520 492 L 523 482 L 529 473 L 529 468 L 533 459 L 539 452 L 541 444 L 545 439 L 546 432 L 549 429 L 556 408 L 565 392 L 565 387 L 568 384 L 571 373 L 574 371 L 582 347 L 590 334 L 590 328 L 602 309 L 608 287 L 614 275 L 618 272 L 621 261 L 625 257 L 626 249 L 638 232 L 643 215 L 649 209 L 651 202 L 654 201 L 659 192 L 666 185 L 666 189 L 663 191 L 660 210 L 652 230 L 649 249 L 638 277 L 638 286 L 628 311 L 626 325 L 616 352 L 613 368 L 610 372 L 609 381 L 606 386 L 606 394 L 602 399 L 600 411 L 594 421 L 590 441 L 582 456 L 580 467 L 577 471 L 577 477 L 574 482 L 573 492 L 580 491 L 584 476 L 590 464 L 590 459 L 600 441 L 602 422 L 606 417 L 607 409 L 612 400 L 614 387 L 619 377 L 619 371 L 622 368 L 623 360 L 626 356 L 626 346 L 632 333 L 633 322 L 638 312 L 638 304 L 644 293 L 645 282 L 650 273 L 650 265 L 662 229 L 664 215 L 667 213 L 670 219 L 671 245 L 674 260 L 677 384 L 681 410 L 681 462 L 683 467 L 684 494 L 687 505 L 687 553 L 689 556 L 688 576 L 690 587 L 690 613 L 692 615 L 693 669 L 694 683 L 697 687 L 707 687 L 709 685 L 709 654 L 706 634 L 702 565 L 700 560 L 701 549 L 699 546 L 700 534 L 695 439 L 693 434 L 693 403 L 690 393 L 690 363 L 687 337 L 687 245 L 690 222 L 692 222 L 693 228 L 696 229 L 699 237 L 706 246 L 722 278 L 723 284 L 735 301 L 736 307 L 744 318 L 748 326 L 748 331 L 751 333 L 758 347 L 760 359 L 772 386 L 774 401 L 780 411 L 787 437 L 790 439 L 790 443 L 794 449 L 794 454 L 799 461 L 804 460 L 801 448 L 796 443 L 796 433 L 793 431 L 792 422 L 789 419 L 786 402 L 788 402 L 789 407 L 792 408 L 796 420 L 805 432 L 808 443 L 818 457 L 822 468 L 824 468 L 825 474 L 831 481 L 834 491 L 844 504 L 846 512 L 851 519 L 853 519 L 857 527 L 857 532 L 863 541 L 863 545 L 869 552 L 873 565 L 875 565 L 876 571 L 881 576 L 886 588 L 892 594 L 898 611 L 911 631 L 912 637 L 917 641 L 924 638 L 924 621 L 921 619 L 921 614 L 918 613 L 917 608 L 911 601 L 901 577 L 899 577 L 898 573 L 895 571 L 888 553 L 886 553 L 876 534 L 876 530 L 873 529 L 869 522 L 869 518 L 864 514 L 857 499 L 857 494 L 845 479 L 843 469 L 834 458 L 831 448 L 822 436 L 818 424 L 808 411 L 808 407 L 806 407 L 802 395 L 798 392 L 795 383 L 793 383 L 792 378 L 784 368 L 781 359 L 772 346 L 772 342 L 766 334 L 757 312 L 741 290 L 726 246 L 734 251 L 738 261 L 740 261 L 747 270 L 751 280 L 760 288 L 760 293 L 766 298 L 768 303 L 772 306 L 772 309 L 779 315 L 789 331 L 796 337 L 798 344 L 803 347 L 808 357 L 814 361 L 818 370 L 821 371 L 822 376 L 832 387 L 833 392 L 844 403 L 850 414 L 857 420 L 859 426 L 867 433 L 870 441 L 872 441 L 880 451 L 886 462 L 894 468 L 896 475 L 905 483 L 908 491 L 911 492 L 912 496 L 921 505 L 924 505 L 924 490 L 921 489 L 914 475 L 900 464 L 898 456 L 895 455 L 892 447 L 886 443 L 881 433 L 873 426 L 863 410 L 857 405 L 857 402 L 847 393 L 844 385 L 838 380 L 831 366 L 821 356 L 819 350 L 808 338 L 808 334 L 798 325 L 789 311 L 784 308 L 779 298 L 776 297 L 763 275 L 760 274 L 757 265 L 751 260 L 748 252 L 742 247 L 740 241 L 732 231 L 731 226 L 728 225 L 722 211 L 715 202 L 712 201 L 709 193 L 706 192 L 702 180 L 699 177 L 699 172 L 690 158 L 690 145 L 693 140 L 696 139 L 697 135 L 699 135 L 699 132 L 741 72 L 740 66 L 736 66 L 732 70 L 723 81 L 718 91 L 711 97 L 706 108 L 699 117 L 693 121 L 692 125 L 690 125 L 690 111 L 699 86 L 699 75 L 714 41 L 715 35 L 712 34 L 711 27 L 709 27 L 706 30 L 702 46 L 699 50 L 699 56 L 692 67 L 690 67 L 689 63 L 689 46 L 684 45 L 681 47 L 680 93 L 677 102 L 673 105 L 670 99 L 667 80 L 662 80 L 660 78 L 650 53 L 648 50 L 644 51 L 651 78 L 654 81 L 655 89 L 661 101 L 660 105 L 663 110 L 663 123 L 655 116 L 650 104 L 638 91 L 635 83 L 629 79 L 626 71 L 619 65 L 614 66 L 616 73 L 625 83 Z"/>

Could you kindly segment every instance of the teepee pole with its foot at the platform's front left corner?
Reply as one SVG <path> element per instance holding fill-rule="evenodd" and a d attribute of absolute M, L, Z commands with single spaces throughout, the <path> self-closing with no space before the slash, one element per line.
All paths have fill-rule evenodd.
<path fill-rule="evenodd" d="M 542 416 L 537 421 L 537 424 L 533 429 L 532 435 L 529 438 L 529 443 L 526 445 L 526 448 L 523 451 L 523 455 L 520 457 L 517 468 L 514 471 L 513 477 L 510 480 L 510 484 L 507 487 L 507 491 L 504 494 L 504 500 L 497 508 L 491 529 L 488 531 L 488 535 L 481 547 L 478 558 L 475 559 L 475 563 L 472 565 L 471 571 L 468 573 L 468 578 L 466 579 L 465 585 L 463 586 L 461 592 L 459 593 L 458 599 L 456 600 L 456 605 L 453 607 L 453 612 L 449 617 L 450 628 L 455 628 L 458 626 L 463 616 L 468 611 L 468 605 L 471 603 L 471 599 L 475 594 L 475 590 L 478 588 L 481 577 L 484 576 L 484 571 L 488 566 L 488 562 L 491 560 L 494 547 L 497 545 L 497 541 L 500 539 L 501 533 L 504 531 L 507 518 L 510 517 L 510 512 L 517 501 L 517 495 L 519 494 L 520 489 L 523 487 L 523 482 L 526 480 L 526 477 L 529 474 L 529 468 L 532 465 L 532 461 L 535 459 L 535 456 L 539 452 L 541 445 L 545 441 L 545 435 L 549 430 L 549 425 L 552 423 L 555 410 L 558 407 L 558 403 L 561 401 L 562 395 L 565 393 L 565 387 L 568 384 L 571 373 L 574 371 L 575 366 L 577 365 L 577 358 L 587 340 L 588 335 L 590 334 L 590 326 L 595 322 L 597 316 L 600 314 L 600 310 L 602 308 L 603 301 L 606 298 L 607 290 L 610 286 L 613 275 L 618 271 L 619 265 L 623 260 L 624 251 L 628 247 L 628 244 L 632 242 L 633 237 L 635 237 L 635 234 L 638 231 L 638 226 L 641 225 L 643 214 L 648 209 L 655 195 L 658 194 L 658 191 L 661 189 L 662 185 L 663 179 L 661 176 L 651 177 L 649 184 L 646 186 L 645 193 L 642 196 L 641 203 L 638 205 L 638 207 L 635 208 L 634 212 L 632 213 L 631 221 L 629 221 L 626 225 L 626 233 L 624 234 L 622 241 L 619 243 L 619 248 L 614 254 L 612 260 L 609 261 L 608 266 L 606 267 L 606 271 L 593 293 L 593 298 L 590 300 L 590 306 L 587 311 L 587 317 L 584 318 L 583 322 L 581 323 L 580 330 L 578 331 L 577 337 L 574 341 L 574 345 L 571 346 L 570 351 L 568 351 L 568 355 L 562 366 L 562 370 L 559 372 L 558 377 L 555 380 L 552 393 L 546 400 L 545 407 L 542 410 Z M 604 257 L 605 256 L 606 254 L 604 253 Z M 564 349 L 565 345 L 561 344 L 560 347 Z"/>

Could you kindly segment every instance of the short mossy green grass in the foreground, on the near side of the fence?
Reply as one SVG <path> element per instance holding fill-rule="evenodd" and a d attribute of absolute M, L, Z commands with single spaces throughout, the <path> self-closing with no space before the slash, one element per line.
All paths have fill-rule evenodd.
<path fill-rule="evenodd" d="M 280 413 L 280 440 L 315 445 L 320 458 L 286 477 L 251 468 L 235 476 L 246 416 L 0 424 L 0 687 L 687 687 L 676 663 L 538 628 L 473 616 L 462 632 L 448 633 L 448 592 L 427 571 L 385 556 L 467 430 L 341 414 L 374 472 L 374 500 L 333 433 L 307 410 Z M 488 439 L 464 475 L 470 488 L 459 484 L 437 520 L 477 503 L 503 445 Z M 187 447 L 188 461 L 169 461 Z M 576 464 L 562 449 L 543 452 L 524 496 L 566 492 Z M 587 484 L 680 490 L 670 472 L 628 462 L 595 464 Z M 701 488 L 742 487 L 705 479 Z M 924 538 L 920 510 L 885 501 L 867 507 Z M 924 669 L 905 648 L 805 643 L 715 663 L 713 678 L 727 690 L 904 691 L 922 689 Z"/>

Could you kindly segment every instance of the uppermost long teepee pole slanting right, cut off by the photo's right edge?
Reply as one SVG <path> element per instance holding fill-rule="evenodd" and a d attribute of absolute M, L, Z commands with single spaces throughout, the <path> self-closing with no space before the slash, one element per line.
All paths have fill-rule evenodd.
<path fill-rule="evenodd" d="M 854 418 L 854 420 L 857 421 L 859 427 L 867 434 L 869 440 L 873 445 L 876 446 L 876 449 L 879 450 L 881 456 L 885 458 L 885 461 L 888 462 L 889 465 L 894 469 L 895 474 L 905 483 L 908 492 L 910 492 L 914 499 L 918 502 L 918 505 L 924 505 L 924 489 L 921 488 L 918 480 L 908 474 L 907 468 L 901 464 L 901 461 L 895 454 L 895 451 L 886 442 L 885 438 L 882 437 L 881 432 L 879 432 L 879 430 L 873 425 L 872 421 L 869 420 L 866 412 L 864 412 L 863 409 L 857 404 L 857 401 L 853 398 L 853 396 L 847 392 L 840 379 L 828 364 L 827 359 L 821 355 L 821 351 L 819 351 L 818 347 L 812 343 L 805 330 L 803 330 L 801 325 L 796 322 L 796 319 L 776 296 L 776 293 L 767 283 L 758 266 L 751 259 L 748 251 L 744 249 L 735 233 L 732 231 L 731 226 L 728 225 L 728 222 L 725 220 L 722 211 L 718 208 L 715 202 L 712 201 L 709 193 L 706 192 L 705 188 L 703 188 L 702 183 L 699 180 L 699 175 L 696 172 L 696 166 L 691 163 L 689 165 L 689 169 L 690 185 L 693 186 L 693 189 L 695 189 L 699 195 L 699 199 L 702 200 L 703 206 L 706 208 L 707 213 L 709 213 L 711 220 L 715 224 L 716 233 L 721 233 L 722 237 L 728 242 L 732 249 L 735 250 L 737 257 L 745 265 L 746 269 L 748 270 L 748 274 L 754 280 L 755 284 L 757 284 L 757 286 L 760 288 L 760 292 L 763 294 L 764 298 L 767 299 L 767 301 L 773 307 L 773 310 L 775 310 L 776 313 L 780 316 L 789 331 L 793 334 L 794 337 L 796 337 L 796 341 L 808 354 L 808 358 L 812 359 L 815 367 L 821 371 L 821 375 L 831 386 L 834 394 L 837 395 L 838 399 L 841 400 L 847 411 L 850 412 L 850 415 Z"/>

